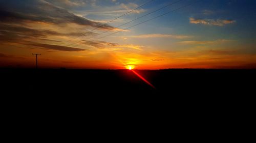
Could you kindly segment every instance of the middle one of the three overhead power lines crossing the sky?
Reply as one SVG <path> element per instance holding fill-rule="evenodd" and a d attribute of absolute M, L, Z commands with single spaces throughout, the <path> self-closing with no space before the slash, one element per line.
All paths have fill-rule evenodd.
<path fill-rule="evenodd" d="M 138 20 L 138 19 L 140 19 L 140 18 L 142 18 L 142 17 L 145 17 L 145 16 L 150 15 L 150 14 L 152 14 L 152 13 L 155 13 L 155 12 L 157 12 L 157 11 L 159 11 L 159 10 L 162 10 L 162 9 L 168 7 L 168 6 L 171 6 L 171 5 L 174 5 L 174 4 L 176 4 L 176 3 L 179 3 L 180 1 L 183 1 L 183 0 L 179 0 L 179 1 L 176 1 L 176 2 L 173 2 L 173 3 L 170 3 L 170 4 L 168 4 L 168 5 L 164 6 L 164 7 L 161 7 L 161 8 L 159 8 L 159 9 L 155 10 L 155 11 L 152 11 L 152 12 L 150 12 L 150 13 L 147 13 L 147 14 L 145 14 L 145 15 L 142 15 L 142 16 L 140 16 L 140 17 L 137 17 L 136 19 L 131 20 L 131 21 L 129 21 L 129 22 L 126 22 L 126 23 L 124 23 L 124 24 L 118 25 L 117 27 L 113 27 L 111 30 L 102 32 L 102 33 L 97 34 L 97 35 L 95 35 L 95 36 L 93 36 L 93 37 L 90 37 L 90 38 L 88 38 L 88 39 L 91 39 L 91 38 L 94 38 L 94 37 L 99 36 L 99 35 L 101 35 L 101 34 L 104 34 L 104 33 L 107 33 L 107 32 L 109 32 L 109 31 L 112 31 L 112 30 L 115 29 L 115 28 L 121 27 L 121 26 L 126 25 L 126 24 L 128 24 L 128 23 L 131 23 L 131 22 L 133 22 L 133 21 L 135 21 L 135 20 Z M 82 42 L 82 41 L 83 41 L 83 40 L 77 41 L 77 42 L 75 42 L 75 43 L 73 43 L 73 44 L 70 44 L 70 45 L 68 45 L 68 46 L 71 46 L 71 45 L 80 43 L 80 42 Z"/>

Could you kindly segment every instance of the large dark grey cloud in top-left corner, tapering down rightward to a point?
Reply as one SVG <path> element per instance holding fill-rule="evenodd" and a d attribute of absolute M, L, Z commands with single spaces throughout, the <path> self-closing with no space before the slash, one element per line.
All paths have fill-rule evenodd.
<path fill-rule="evenodd" d="M 25 1 L 25 2 L 24 2 Z M 77 16 L 66 9 L 54 6 L 43 0 L 37 1 L 7 1 L 0 2 L 1 22 L 26 23 L 45 22 L 53 24 L 76 23 L 84 26 L 99 27 L 101 23 Z M 110 25 L 103 25 L 100 28 L 111 29 Z"/>

